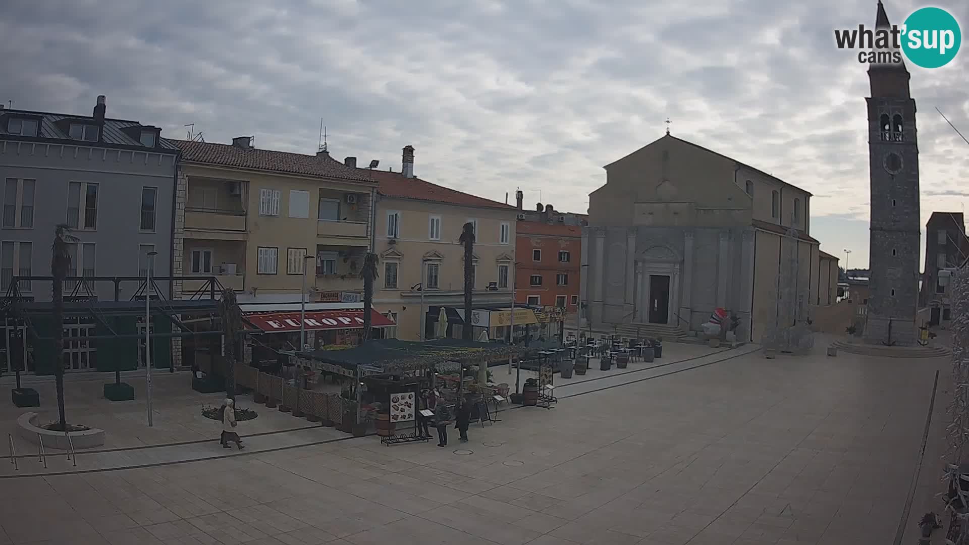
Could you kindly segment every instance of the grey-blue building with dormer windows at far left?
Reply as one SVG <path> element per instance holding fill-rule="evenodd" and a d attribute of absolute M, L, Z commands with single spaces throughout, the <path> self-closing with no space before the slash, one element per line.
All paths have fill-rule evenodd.
<path fill-rule="evenodd" d="M 58 327 L 67 337 L 93 336 L 109 321 L 114 331 L 136 332 L 133 317 L 113 322 L 119 316 L 117 305 L 99 310 L 100 320 L 78 310 L 66 312 L 63 324 L 52 322 L 51 282 L 30 277 L 49 277 L 57 225 L 68 225 L 75 237 L 68 248 L 69 275 L 107 278 L 65 282 L 67 302 L 95 305 L 136 299 L 152 252 L 157 254 L 153 272 L 163 277 L 171 274 L 178 150 L 161 138 L 160 128 L 112 118 L 107 112 L 103 95 L 90 115 L 0 107 L 0 297 L 5 302 L 33 302 L 29 306 L 35 312 L 29 332 L 21 312 L 4 312 L 0 372 L 11 369 L 4 341 L 17 337 L 16 331 L 23 332 L 19 338 L 27 339 L 21 347 L 25 369 L 40 374 L 52 372 L 57 365 L 52 343 L 40 337 L 49 338 Z M 21 278 L 15 283 L 15 277 Z M 163 297 L 171 296 L 168 282 L 157 285 Z M 104 363 L 97 357 L 98 349 L 98 342 L 66 341 L 65 370 L 97 369 Z M 141 363 L 134 344 L 125 350 L 118 355 Z"/>

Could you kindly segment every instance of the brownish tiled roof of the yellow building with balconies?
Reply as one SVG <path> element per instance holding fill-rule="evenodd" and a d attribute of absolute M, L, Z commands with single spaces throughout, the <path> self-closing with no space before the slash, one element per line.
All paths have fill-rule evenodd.
<path fill-rule="evenodd" d="M 374 181 L 370 171 L 350 168 L 329 155 L 303 155 L 271 149 L 245 149 L 232 144 L 170 140 L 181 149 L 182 160 L 303 176 Z"/>

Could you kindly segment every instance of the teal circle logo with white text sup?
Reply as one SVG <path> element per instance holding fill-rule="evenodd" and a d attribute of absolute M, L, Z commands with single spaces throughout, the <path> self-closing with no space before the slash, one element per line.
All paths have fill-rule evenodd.
<path fill-rule="evenodd" d="M 901 42 L 910 61 L 922 68 L 939 68 L 955 58 L 962 44 L 962 33 L 949 12 L 922 8 L 905 19 Z"/>

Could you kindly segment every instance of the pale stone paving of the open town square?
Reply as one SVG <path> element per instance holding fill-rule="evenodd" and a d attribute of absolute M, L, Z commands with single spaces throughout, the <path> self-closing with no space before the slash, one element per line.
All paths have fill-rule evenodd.
<path fill-rule="evenodd" d="M 753 348 L 633 364 L 628 384 L 556 378 L 554 409 L 503 411 L 445 449 L 363 437 L 258 452 L 290 444 L 265 435 L 241 456 L 3 478 L 0 545 L 891 544 L 936 369 L 928 484 L 911 516 L 940 510 L 928 502 L 941 490 L 948 361 L 755 352 L 712 363 Z M 137 463 L 140 452 L 124 455 Z M 78 469 L 109 465 L 96 456 L 109 453 L 80 455 Z M 51 470 L 72 469 L 59 464 Z M 904 526 L 903 543 L 915 543 Z"/>

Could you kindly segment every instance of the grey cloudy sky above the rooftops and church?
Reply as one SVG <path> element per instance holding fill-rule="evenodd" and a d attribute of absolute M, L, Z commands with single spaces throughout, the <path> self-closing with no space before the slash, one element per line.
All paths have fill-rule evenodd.
<path fill-rule="evenodd" d="M 892 22 L 924 4 L 889 0 Z M 969 33 L 969 3 L 936 0 Z M 672 133 L 813 192 L 812 234 L 867 263 L 865 67 L 835 28 L 875 0 L 6 0 L 0 100 L 207 142 L 316 150 L 502 201 L 585 211 L 602 166 Z M 922 224 L 969 201 L 969 46 L 909 64 Z M 534 191 L 533 191 L 534 190 Z"/>

